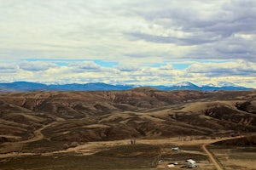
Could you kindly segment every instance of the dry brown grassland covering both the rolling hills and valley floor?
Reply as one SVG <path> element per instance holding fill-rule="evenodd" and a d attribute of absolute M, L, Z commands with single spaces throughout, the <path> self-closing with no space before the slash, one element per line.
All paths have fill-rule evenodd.
<path fill-rule="evenodd" d="M 19 168 L 154 169 L 160 158 L 193 157 L 198 169 L 213 169 L 201 144 L 256 132 L 255 93 L 137 88 L 0 94 L 0 168 L 24 162 Z M 137 139 L 135 147 L 127 145 L 130 139 Z M 182 152 L 170 150 L 177 145 Z M 212 150 L 219 159 L 228 157 L 222 162 L 227 168 L 250 168 L 252 152 L 233 149 Z"/>

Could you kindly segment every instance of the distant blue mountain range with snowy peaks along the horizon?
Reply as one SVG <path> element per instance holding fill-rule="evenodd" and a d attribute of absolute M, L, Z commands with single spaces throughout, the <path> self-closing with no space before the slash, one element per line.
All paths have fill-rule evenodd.
<path fill-rule="evenodd" d="M 238 87 L 231 83 L 227 85 L 217 87 L 212 84 L 205 86 L 196 86 L 191 82 L 181 82 L 172 86 L 148 86 L 150 88 L 156 88 L 159 90 L 202 90 L 202 91 L 215 91 L 215 90 L 251 90 L 253 88 Z M 10 82 L 0 83 L 0 92 L 27 92 L 27 91 L 92 91 L 92 90 L 128 90 L 131 88 L 137 88 L 135 85 L 111 85 L 102 82 L 92 83 L 72 83 L 72 84 L 52 84 L 46 85 L 37 82 Z"/>

